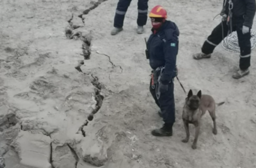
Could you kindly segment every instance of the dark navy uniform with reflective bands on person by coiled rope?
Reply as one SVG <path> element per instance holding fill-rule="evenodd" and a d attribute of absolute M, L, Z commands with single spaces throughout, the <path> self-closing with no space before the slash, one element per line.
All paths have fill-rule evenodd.
<path fill-rule="evenodd" d="M 224 0 L 222 15 L 228 15 L 229 12 L 229 1 Z M 250 54 L 251 54 L 251 34 L 242 33 L 242 26 L 247 26 L 251 29 L 253 25 L 253 18 L 255 15 L 255 0 L 232 0 L 232 31 L 237 32 L 237 38 L 240 46 L 240 63 L 239 67 L 241 70 L 250 67 Z M 222 21 L 218 26 L 216 26 L 212 34 L 210 34 L 205 40 L 203 47 L 201 48 L 202 53 L 212 54 L 215 47 L 221 43 L 223 38 L 228 35 L 228 30 L 230 27 L 227 25 L 227 21 Z"/>

